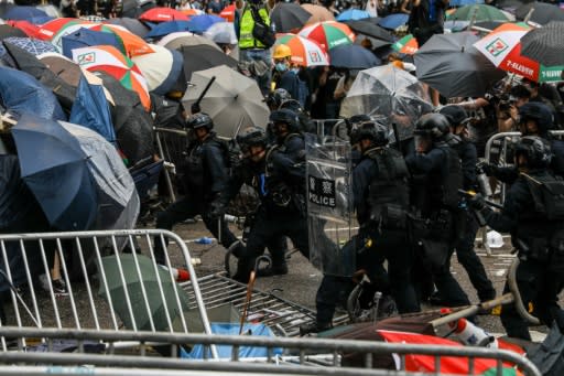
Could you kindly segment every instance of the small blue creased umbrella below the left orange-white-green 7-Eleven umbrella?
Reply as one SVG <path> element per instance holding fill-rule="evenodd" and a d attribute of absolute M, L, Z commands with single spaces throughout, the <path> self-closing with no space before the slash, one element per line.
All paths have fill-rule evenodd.
<path fill-rule="evenodd" d="M 116 142 L 110 107 L 104 94 L 104 88 L 101 85 L 88 84 L 84 76 L 80 77 L 78 83 L 76 98 L 68 120 L 96 131 L 109 142 Z"/>

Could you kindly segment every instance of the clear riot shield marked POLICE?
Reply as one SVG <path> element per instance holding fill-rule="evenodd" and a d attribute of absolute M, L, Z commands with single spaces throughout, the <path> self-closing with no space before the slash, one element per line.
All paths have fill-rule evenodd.
<path fill-rule="evenodd" d="M 325 275 L 356 270 L 352 229 L 351 151 L 340 139 L 306 135 L 306 196 L 310 260 Z"/>

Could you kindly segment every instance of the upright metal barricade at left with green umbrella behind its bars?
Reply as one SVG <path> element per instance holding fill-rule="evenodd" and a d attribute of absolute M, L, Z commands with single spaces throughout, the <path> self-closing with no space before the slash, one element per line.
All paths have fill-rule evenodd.
<path fill-rule="evenodd" d="M 166 267 L 156 264 L 153 241 L 167 249 Z M 174 233 L 0 235 L 0 325 L 188 333 L 188 294 L 172 265 L 185 265 L 198 327 L 212 333 L 189 251 Z"/>

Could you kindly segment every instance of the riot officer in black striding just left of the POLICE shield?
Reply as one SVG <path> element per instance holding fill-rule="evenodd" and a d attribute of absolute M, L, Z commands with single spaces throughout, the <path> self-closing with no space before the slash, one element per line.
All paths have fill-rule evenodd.
<path fill-rule="evenodd" d="M 247 247 L 239 257 L 234 279 L 247 282 L 257 257 L 271 239 L 288 236 L 308 258 L 310 245 L 305 208 L 305 143 L 299 119 L 289 109 L 270 115 L 275 143 L 263 152 L 265 194 L 257 211 Z"/>

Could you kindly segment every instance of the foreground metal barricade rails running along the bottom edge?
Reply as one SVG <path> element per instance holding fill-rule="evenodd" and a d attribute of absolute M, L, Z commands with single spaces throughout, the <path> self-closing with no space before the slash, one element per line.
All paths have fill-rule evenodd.
<path fill-rule="evenodd" d="M 529 359 L 520 354 L 486 347 L 470 346 L 441 346 L 441 345 L 413 345 L 404 343 L 384 343 L 371 341 L 351 340 L 322 340 L 322 339 L 283 339 L 247 335 L 204 335 L 204 334 L 181 334 L 181 333 L 151 333 L 132 331 L 58 331 L 54 329 L 21 329 L 0 327 L 1 337 L 42 337 L 47 344 L 55 340 L 75 341 L 80 348 L 85 341 L 102 341 L 112 344 L 116 342 L 139 343 L 139 354 L 121 355 L 111 354 L 111 345 L 105 354 L 79 354 L 69 353 L 37 353 L 8 351 L 0 353 L 0 363 L 7 366 L 0 367 L 0 375 L 7 370 L 31 369 L 32 366 L 40 367 L 50 374 L 66 370 L 67 375 L 75 369 L 72 366 L 88 365 L 90 372 L 100 374 L 121 370 L 120 375 L 171 375 L 174 370 L 213 373 L 219 374 L 291 374 L 291 375 L 421 375 L 405 370 L 408 355 L 429 355 L 434 358 L 434 375 L 446 375 L 441 373 L 442 357 L 467 358 L 468 375 L 475 374 L 476 359 L 495 359 L 495 373 L 502 375 L 503 366 L 514 365 L 523 375 L 541 376 L 539 369 Z M 151 356 L 148 354 L 148 343 L 167 343 L 176 346 L 189 346 L 191 344 L 202 345 L 229 345 L 232 346 L 230 358 L 221 361 L 194 361 L 187 358 L 166 358 Z M 238 357 L 241 346 L 253 346 L 267 348 L 267 356 L 263 358 L 242 359 Z M 282 355 L 275 355 L 274 351 L 282 350 Z M 317 362 L 315 354 L 329 354 L 328 362 Z M 344 354 L 359 354 L 364 359 L 357 367 L 341 366 Z M 141 355 L 141 356 L 139 356 Z M 373 368 L 375 356 L 393 356 L 397 369 Z M 315 366 L 312 366 L 315 365 Z M 31 369 L 33 370 L 33 369 Z M 21 373 L 21 370 L 19 372 Z M 28 373 L 28 372 L 26 372 Z M 84 369 L 83 369 L 84 373 Z"/>

